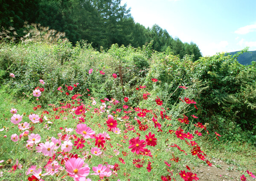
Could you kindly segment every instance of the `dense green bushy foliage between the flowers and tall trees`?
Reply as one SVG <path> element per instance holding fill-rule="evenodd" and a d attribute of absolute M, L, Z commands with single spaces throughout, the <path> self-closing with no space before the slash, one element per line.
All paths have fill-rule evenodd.
<path fill-rule="evenodd" d="M 81 95 L 117 100 L 128 97 L 130 106 L 140 105 L 143 95 L 136 90 L 140 86 L 146 86 L 144 93 L 156 93 L 166 99 L 169 108 L 185 91 L 197 100 L 198 109 L 192 114 L 197 113 L 201 122 L 210 123 L 209 129 L 227 135 L 224 140 L 255 144 L 256 63 L 243 66 L 235 57 L 224 54 L 194 62 L 190 55 L 183 59 L 173 55 L 172 49 L 156 52 L 152 42 L 142 48 L 113 44 L 108 52 L 98 52 L 91 44 L 80 42 L 73 47 L 56 34 L 42 34 L 35 31 L 18 44 L 5 43 L 9 39 L 2 41 L 0 81 L 17 89 L 17 97 L 35 89 L 40 79 L 48 82 L 41 100 L 44 103 L 58 100 L 54 90 L 59 86 L 76 83 Z M 10 80 L 9 73 L 15 74 L 15 81 Z M 159 81 L 153 84 L 152 78 Z M 176 90 L 177 86 L 189 87 L 189 91 Z"/>

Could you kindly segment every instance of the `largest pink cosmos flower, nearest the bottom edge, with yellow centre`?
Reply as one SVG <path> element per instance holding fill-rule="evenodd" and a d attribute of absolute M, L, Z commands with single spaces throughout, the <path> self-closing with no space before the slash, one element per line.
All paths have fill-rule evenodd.
<path fill-rule="evenodd" d="M 70 158 L 66 163 L 66 171 L 70 174 L 70 177 L 73 178 L 82 178 L 89 175 L 90 168 L 83 167 L 84 161 L 81 158 Z"/>

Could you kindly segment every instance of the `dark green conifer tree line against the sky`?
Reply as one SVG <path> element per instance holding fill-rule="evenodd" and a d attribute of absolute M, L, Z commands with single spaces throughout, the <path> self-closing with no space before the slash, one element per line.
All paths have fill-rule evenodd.
<path fill-rule="evenodd" d="M 174 55 L 195 55 L 201 57 L 198 46 L 183 43 L 155 24 L 145 28 L 135 23 L 126 4 L 121 0 L 0 0 L 0 26 L 14 27 L 17 34 L 23 34 L 23 23 L 40 23 L 58 32 L 75 44 L 87 40 L 100 50 L 112 44 L 142 47 L 153 40 L 152 49 L 168 51 Z"/>

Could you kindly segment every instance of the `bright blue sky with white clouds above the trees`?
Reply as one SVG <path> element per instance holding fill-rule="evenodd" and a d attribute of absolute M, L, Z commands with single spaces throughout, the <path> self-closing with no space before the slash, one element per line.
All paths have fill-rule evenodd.
<path fill-rule="evenodd" d="M 193 41 L 203 56 L 256 50 L 256 0 L 121 0 L 136 23 Z"/>

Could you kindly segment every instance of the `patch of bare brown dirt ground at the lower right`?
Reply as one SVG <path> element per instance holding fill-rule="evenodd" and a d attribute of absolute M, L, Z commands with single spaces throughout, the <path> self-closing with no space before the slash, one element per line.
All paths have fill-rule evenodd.
<path fill-rule="evenodd" d="M 227 164 L 217 158 L 211 160 L 212 167 L 199 165 L 192 171 L 197 174 L 199 181 L 241 181 L 241 176 L 245 172 L 239 171 L 239 167 L 233 164 Z M 249 178 L 255 181 L 254 178 Z M 247 177 L 248 180 L 248 177 Z"/>

